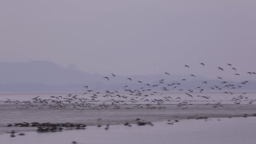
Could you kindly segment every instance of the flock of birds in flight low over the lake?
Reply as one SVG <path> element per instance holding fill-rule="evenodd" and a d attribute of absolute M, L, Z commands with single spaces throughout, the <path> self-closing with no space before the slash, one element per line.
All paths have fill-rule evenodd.
<path fill-rule="evenodd" d="M 202 67 L 205 66 L 204 63 L 199 63 Z M 227 64 L 229 68 L 234 71 L 237 71 L 236 68 L 232 67 L 231 64 Z M 190 68 L 189 65 L 184 65 L 185 68 Z M 224 71 L 224 68 L 217 67 L 218 70 Z M 255 74 L 255 72 L 246 72 L 247 74 Z M 170 73 L 163 72 L 163 75 L 170 76 Z M 240 76 L 238 73 L 234 73 L 234 75 Z M 111 77 L 116 77 L 117 75 L 112 73 Z M 191 77 L 196 77 L 195 74 L 189 74 Z M 113 108 L 114 110 L 118 110 L 121 108 L 125 108 L 127 110 L 132 110 L 134 108 L 147 108 L 147 109 L 166 109 L 164 104 L 173 104 L 175 101 L 177 107 L 182 108 L 183 110 L 188 108 L 188 105 L 193 105 L 191 101 L 193 98 L 201 98 L 204 101 L 207 101 L 210 96 L 204 95 L 205 90 L 224 90 L 223 94 L 234 95 L 235 92 L 231 92 L 232 89 L 239 89 L 246 85 L 248 81 L 242 81 L 240 85 L 234 85 L 232 83 L 228 83 L 224 81 L 222 77 L 217 76 L 217 79 L 220 82 L 216 85 L 207 86 L 207 81 L 202 81 L 200 86 L 195 86 L 194 88 L 185 90 L 182 89 L 183 82 L 186 79 L 181 79 L 180 82 L 166 83 L 165 79 L 158 80 L 155 84 L 143 83 L 140 80 L 135 81 L 136 83 L 140 83 L 141 88 L 137 89 L 129 89 L 129 85 L 125 85 L 123 87 L 123 91 L 93 91 L 90 90 L 89 86 L 84 86 L 86 89 L 81 96 L 68 94 L 67 96 L 50 96 L 49 98 L 43 99 L 40 96 L 36 96 L 32 98 L 33 101 L 13 101 L 7 99 L 5 102 L 13 102 L 17 104 L 18 109 L 26 109 L 26 108 L 68 108 L 71 107 L 73 109 L 79 110 L 80 112 L 86 109 L 96 109 L 100 110 L 103 108 Z M 107 81 L 111 80 L 110 77 L 103 77 Z M 128 82 L 134 82 L 133 79 L 127 78 Z M 154 88 L 158 88 L 161 90 L 155 91 Z M 179 92 L 182 96 L 174 97 L 172 92 Z M 196 95 L 195 95 L 196 94 Z M 198 95 L 200 94 L 200 95 Z M 234 104 L 240 104 L 243 99 L 249 100 L 249 96 L 246 96 L 246 93 L 238 94 L 239 96 L 234 96 L 230 101 L 234 102 Z M 190 100 L 186 100 L 186 99 Z M 250 100 L 247 104 L 252 104 L 255 100 Z M 206 103 L 210 104 L 210 102 Z M 212 107 L 223 107 L 221 102 L 215 102 L 214 104 L 210 104 Z"/>

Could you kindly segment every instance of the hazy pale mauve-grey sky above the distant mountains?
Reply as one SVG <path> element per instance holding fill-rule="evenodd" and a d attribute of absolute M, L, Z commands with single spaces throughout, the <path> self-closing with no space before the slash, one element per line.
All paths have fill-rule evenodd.
<path fill-rule="evenodd" d="M 255 54 L 256 0 L 0 0 L 1 62 L 213 77 L 255 72 Z"/>

